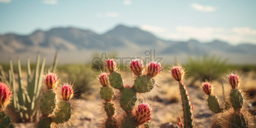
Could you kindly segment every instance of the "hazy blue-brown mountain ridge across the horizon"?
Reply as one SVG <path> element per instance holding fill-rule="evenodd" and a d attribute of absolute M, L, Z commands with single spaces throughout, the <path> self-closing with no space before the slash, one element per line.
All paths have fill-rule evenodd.
<path fill-rule="evenodd" d="M 156 42 L 158 41 L 158 42 Z M 154 43 L 156 42 L 156 43 Z M 0 35 L 0 50 L 4 53 L 47 52 L 58 51 L 143 51 L 156 49 L 163 55 L 204 55 L 208 53 L 256 55 L 256 45 L 230 45 L 227 42 L 214 40 L 201 43 L 191 39 L 188 41 L 160 40 L 148 31 L 137 27 L 118 25 L 104 34 L 79 28 L 52 28 L 48 31 L 36 30 L 30 35 Z"/>

